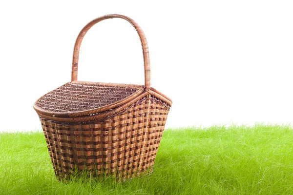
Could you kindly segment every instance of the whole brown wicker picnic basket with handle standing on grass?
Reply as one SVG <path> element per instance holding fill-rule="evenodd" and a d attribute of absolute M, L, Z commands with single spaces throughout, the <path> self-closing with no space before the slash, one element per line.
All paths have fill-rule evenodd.
<path fill-rule="evenodd" d="M 77 81 L 78 59 L 86 32 L 111 18 L 127 20 L 141 40 L 145 85 Z M 75 42 L 71 82 L 39 98 L 38 113 L 58 179 L 86 171 L 122 179 L 149 173 L 172 102 L 150 87 L 146 37 L 122 15 L 105 15 L 84 26 Z"/>

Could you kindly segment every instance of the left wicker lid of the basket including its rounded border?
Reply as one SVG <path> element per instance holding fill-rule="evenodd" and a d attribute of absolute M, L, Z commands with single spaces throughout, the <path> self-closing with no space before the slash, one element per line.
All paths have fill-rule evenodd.
<path fill-rule="evenodd" d="M 96 82 L 68 82 L 39 98 L 36 111 L 53 117 L 89 115 L 126 103 L 144 91 L 143 85 Z"/>

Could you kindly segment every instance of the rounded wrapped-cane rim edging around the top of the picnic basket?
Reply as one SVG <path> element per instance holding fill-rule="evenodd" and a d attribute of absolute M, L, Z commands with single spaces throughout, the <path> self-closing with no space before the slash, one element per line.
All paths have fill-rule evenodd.
<path fill-rule="evenodd" d="M 144 94 L 143 92 L 147 92 L 149 94 L 153 94 L 155 96 L 157 96 L 157 98 L 159 98 L 160 100 L 165 101 L 167 104 L 171 105 L 172 104 L 172 100 L 170 98 L 168 98 L 167 96 L 165 96 L 164 94 L 158 92 L 156 89 L 151 88 L 150 91 L 146 91 L 145 85 L 136 85 L 136 84 L 119 84 L 119 83 L 104 83 L 104 82 L 87 82 L 87 81 L 71 81 L 71 82 L 67 82 L 65 84 L 68 83 L 73 83 L 73 84 L 88 84 L 88 85 L 97 85 L 97 86 L 114 86 L 114 87 L 131 87 L 134 89 L 137 89 L 136 92 L 134 92 L 133 94 L 131 94 L 130 96 L 121 99 L 119 101 L 113 102 L 111 104 L 102 106 L 102 107 L 98 107 L 98 108 L 93 108 L 93 109 L 88 109 L 88 110 L 83 110 L 83 111 L 64 111 L 64 112 L 52 112 L 52 111 L 48 111 L 45 109 L 42 109 L 41 107 L 39 107 L 37 105 L 37 103 L 39 102 L 39 100 L 45 96 L 46 94 L 54 91 L 50 91 L 48 93 L 46 93 L 45 95 L 43 95 L 42 97 L 38 98 L 35 103 L 33 104 L 33 108 L 35 109 L 35 111 L 42 116 L 47 116 L 47 117 L 54 117 L 54 118 L 59 118 L 59 117 L 83 117 L 83 116 L 88 116 L 91 114 L 98 114 L 101 112 L 105 112 L 105 111 L 109 111 L 113 108 L 117 108 L 119 106 L 122 106 L 124 104 L 126 104 L 127 102 L 130 102 L 134 99 L 136 99 L 137 97 L 139 97 L 140 95 Z M 63 84 L 63 85 L 65 85 Z M 63 86 L 62 85 L 62 86 Z M 114 109 L 115 110 L 115 109 Z"/>

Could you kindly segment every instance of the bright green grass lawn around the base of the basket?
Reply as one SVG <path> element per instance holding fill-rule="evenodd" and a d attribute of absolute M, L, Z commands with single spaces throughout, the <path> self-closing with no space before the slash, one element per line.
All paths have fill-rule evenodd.
<path fill-rule="evenodd" d="M 54 178 L 42 132 L 0 134 L 1 195 L 290 195 L 293 128 L 167 129 L 150 176 Z"/>

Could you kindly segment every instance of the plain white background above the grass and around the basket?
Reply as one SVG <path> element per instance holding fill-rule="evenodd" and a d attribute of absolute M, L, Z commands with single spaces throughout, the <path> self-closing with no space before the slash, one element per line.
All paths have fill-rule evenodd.
<path fill-rule="evenodd" d="M 167 127 L 293 122 L 293 3 L 271 0 L 0 1 L 0 130 L 40 129 L 32 104 L 70 81 L 84 25 L 122 14 L 145 31 L 151 86 L 173 100 Z M 125 20 L 85 36 L 79 80 L 143 84 Z"/>

